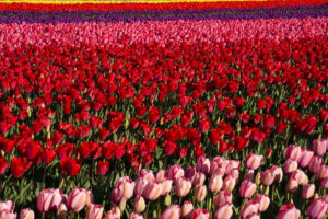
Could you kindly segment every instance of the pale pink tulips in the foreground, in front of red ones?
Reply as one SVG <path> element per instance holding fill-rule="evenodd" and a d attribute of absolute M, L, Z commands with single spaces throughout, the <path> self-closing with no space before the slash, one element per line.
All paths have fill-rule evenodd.
<path fill-rule="evenodd" d="M 324 195 L 325 189 L 328 189 L 328 166 L 321 158 L 328 150 L 328 139 L 315 140 L 313 148 L 318 155 L 300 146 L 289 146 L 284 152 L 286 160 L 283 169 L 273 165 L 258 171 L 268 158 L 254 153 L 248 154 L 244 163 L 222 157 L 215 157 L 211 162 L 201 157 L 196 166 L 186 170 L 179 164 L 171 166 L 168 171 L 160 170 L 156 174 L 142 169 L 136 181 L 128 176 L 118 178 L 110 193 L 113 209 L 105 218 L 120 218 L 124 214 L 128 216 L 129 209 L 133 211 L 129 218 L 156 216 L 161 219 L 209 219 L 210 214 L 215 212 L 212 215 L 215 219 L 229 219 L 233 214 L 243 219 L 255 219 L 260 218 L 261 212 L 265 214 L 270 203 L 274 205 L 281 196 L 279 193 L 283 191 L 280 187 L 285 185 L 288 196 L 282 198 L 282 203 L 289 204 L 280 208 L 277 219 L 298 219 L 301 211 L 293 203 L 300 205 L 302 210 L 307 207 L 309 218 L 321 219 L 328 214 L 328 195 Z M 288 181 L 283 175 L 288 176 Z M 239 178 L 243 178 L 241 184 Z M 237 185 L 239 188 L 236 191 Z M 298 186 L 303 186 L 300 191 L 302 204 L 293 199 Z M 133 203 L 130 203 L 133 196 Z M 68 196 L 59 188 L 43 189 L 37 197 L 37 209 L 43 216 L 55 211 L 58 218 L 66 218 L 68 209 L 73 215 L 87 206 L 87 219 L 103 218 L 104 208 L 93 203 L 94 195 L 90 189 L 75 187 Z M 165 206 L 169 207 L 161 215 Z M 194 210 L 194 206 L 199 208 Z M 0 218 L 15 218 L 13 209 L 13 201 L 0 203 Z M 138 214 L 143 214 L 143 217 Z M 21 218 L 34 218 L 34 212 L 23 209 Z"/>

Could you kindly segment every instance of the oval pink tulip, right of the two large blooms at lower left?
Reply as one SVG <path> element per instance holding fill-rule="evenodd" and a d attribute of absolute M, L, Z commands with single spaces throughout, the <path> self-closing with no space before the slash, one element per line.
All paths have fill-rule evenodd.
<path fill-rule="evenodd" d="M 86 189 L 73 188 L 68 197 L 68 207 L 75 212 L 79 212 L 86 205 Z"/>

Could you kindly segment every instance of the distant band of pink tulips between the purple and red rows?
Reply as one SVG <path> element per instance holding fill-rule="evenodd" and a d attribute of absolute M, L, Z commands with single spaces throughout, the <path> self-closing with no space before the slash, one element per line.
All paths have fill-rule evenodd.
<path fill-rule="evenodd" d="M 24 45 L 44 47 L 57 45 L 81 46 L 89 44 L 109 49 L 112 44 L 157 43 L 197 44 L 203 42 L 239 42 L 251 39 L 297 41 L 326 36 L 327 18 L 268 19 L 232 21 L 144 21 L 132 23 L 58 23 L 58 24 L 0 24 L 0 53 Z M 254 43 L 251 43 L 254 44 Z"/>

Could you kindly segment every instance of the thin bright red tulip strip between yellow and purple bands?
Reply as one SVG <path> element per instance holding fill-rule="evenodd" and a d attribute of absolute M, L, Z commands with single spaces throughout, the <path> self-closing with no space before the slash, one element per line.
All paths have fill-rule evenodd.
<path fill-rule="evenodd" d="M 1 2 L 0 10 L 59 11 L 59 10 L 186 10 L 186 9 L 244 9 L 262 7 L 314 5 L 327 3 L 325 0 L 289 0 L 289 1 L 203 1 L 203 2 L 110 2 L 110 3 L 31 3 Z"/>

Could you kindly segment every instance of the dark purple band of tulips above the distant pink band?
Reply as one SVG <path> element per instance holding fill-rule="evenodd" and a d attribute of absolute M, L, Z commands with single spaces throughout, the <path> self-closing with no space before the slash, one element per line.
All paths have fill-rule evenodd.
<path fill-rule="evenodd" d="M 134 22 L 176 20 L 255 20 L 318 18 L 328 15 L 328 5 L 229 9 L 229 10 L 167 10 L 167 11 L 1 11 L 0 23 L 79 23 Z"/>

